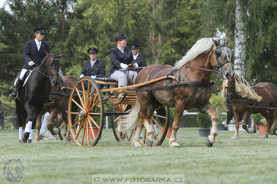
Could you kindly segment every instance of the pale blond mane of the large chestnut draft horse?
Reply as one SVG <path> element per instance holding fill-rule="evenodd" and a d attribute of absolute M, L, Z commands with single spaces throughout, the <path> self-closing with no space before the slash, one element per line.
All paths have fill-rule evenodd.
<path fill-rule="evenodd" d="M 199 39 L 192 47 L 188 50 L 186 55 L 182 57 L 181 60 L 177 61 L 175 63 L 174 69 L 181 68 L 185 64 L 188 64 L 191 60 L 193 60 L 195 57 L 197 57 L 199 54 L 208 52 L 212 45 L 214 44 L 213 39 L 217 42 L 220 42 L 220 44 L 224 44 L 225 41 L 221 38 L 213 37 L 213 38 L 201 38 Z M 221 50 L 221 56 L 218 58 L 219 62 L 222 62 L 224 60 L 224 57 L 228 55 L 229 60 L 231 60 L 232 57 L 232 51 L 229 47 L 220 47 Z"/>

